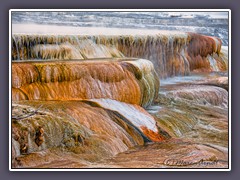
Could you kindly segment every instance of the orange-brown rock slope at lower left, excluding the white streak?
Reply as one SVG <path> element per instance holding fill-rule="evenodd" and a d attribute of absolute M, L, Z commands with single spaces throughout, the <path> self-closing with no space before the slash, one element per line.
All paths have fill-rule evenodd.
<path fill-rule="evenodd" d="M 35 143 L 35 132 L 39 127 L 44 130 L 42 148 L 64 144 L 80 154 L 88 154 L 92 159 L 113 156 L 129 147 L 144 144 L 143 134 L 137 131 L 137 127 L 128 123 L 124 116 L 117 116 L 115 111 L 106 110 L 98 104 L 82 101 L 22 101 L 13 103 L 12 112 L 14 116 L 21 117 L 24 112 L 28 114 L 35 111 L 39 105 L 44 108 L 38 109 L 38 113 L 24 118 L 21 123 L 14 121 L 12 124 L 14 156 L 20 155 L 18 144 L 28 144 L 28 153 L 39 151 Z M 130 110 L 131 106 L 128 106 Z M 76 142 L 78 135 L 83 144 Z"/>

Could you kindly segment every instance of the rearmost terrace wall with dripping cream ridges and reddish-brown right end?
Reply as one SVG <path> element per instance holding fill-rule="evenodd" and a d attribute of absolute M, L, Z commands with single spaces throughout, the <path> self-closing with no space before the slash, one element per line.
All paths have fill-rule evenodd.
<path fill-rule="evenodd" d="M 149 35 L 21 35 L 12 36 L 12 59 L 149 59 L 161 78 L 190 71 L 226 71 L 221 40 L 194 33 Z"/>

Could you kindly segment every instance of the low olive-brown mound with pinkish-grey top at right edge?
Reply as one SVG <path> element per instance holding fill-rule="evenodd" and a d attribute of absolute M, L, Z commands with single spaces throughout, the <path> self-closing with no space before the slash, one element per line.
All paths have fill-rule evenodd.
<path fill-rule="evenodd" d="M 152 115 L 170 136 L 227 147 L 228 92 L 225 89 L 202 83 L 168 85 L 161 89 L 155 103 L 161 109 Z"/>

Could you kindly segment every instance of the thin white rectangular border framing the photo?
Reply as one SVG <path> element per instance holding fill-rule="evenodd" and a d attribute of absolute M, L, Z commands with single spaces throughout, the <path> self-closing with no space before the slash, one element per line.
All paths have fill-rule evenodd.
<path fill-rule="evenodd" d="M 228 169 L 194 169 L 194 168 L 189 168 L 189 169 L 181 169 L 181 168 L 176 168 L 176 169 L 164 169 L 164 168 L 159 168 L 159 169 L 151 169 L 151 168 L 145 168 L 145 169 L 12 169 L 12 142 L 11 142 L 11 134 L 12 134 L 12 52 L 11 52 L 11 47 L 12 47 L 12 12 L 14 11 L 40 11 L 40 12 L 46 12 L 46 11 L 69 11 L 69 12 L 74 12 L 74 11 L 85 11 L 85 12 L 93 12 L 93 11 L 98 11 L 98 12 L 153 12 L 153 11 L 159 11 L 159 12 L 228 12 L 228 22 L 229 22 L 229 29 L 228 29 L 228 83 L 229 83 L 229 90 L 228 90 Z M 9 171 L 231 171 L 231 10 L 230 9 L 10 9 L 9 10 Z"/>

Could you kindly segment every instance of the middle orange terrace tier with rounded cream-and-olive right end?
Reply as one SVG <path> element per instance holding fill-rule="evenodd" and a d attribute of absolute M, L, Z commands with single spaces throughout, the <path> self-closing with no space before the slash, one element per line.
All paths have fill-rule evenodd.
<path fill-rule="evenodd" d="M 159 79 L 148 60 L 13 62 L 12 100 L 109 98 L 148 106 Z"/>

